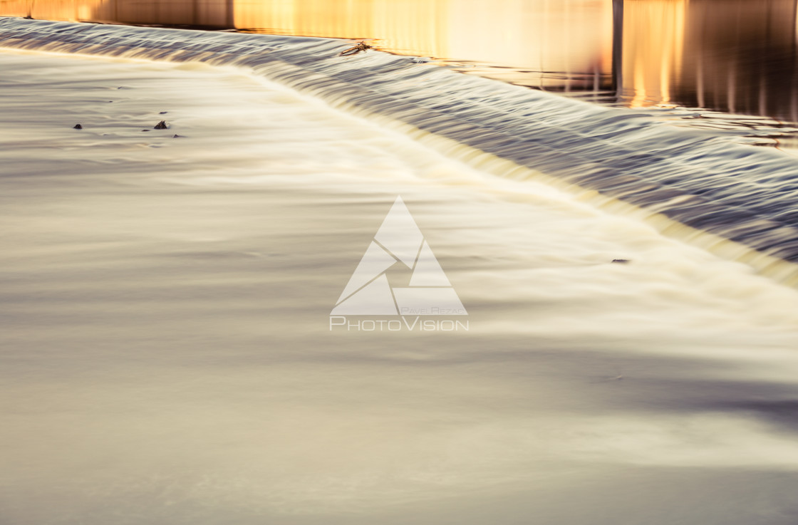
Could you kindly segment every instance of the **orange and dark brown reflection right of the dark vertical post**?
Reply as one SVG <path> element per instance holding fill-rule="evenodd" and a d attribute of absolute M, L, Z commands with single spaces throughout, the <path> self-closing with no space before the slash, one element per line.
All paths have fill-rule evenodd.
<path fill-rule="evenodd" d="M 796 0 L 626 0 L 622 97 L 798 120 Z"/>

